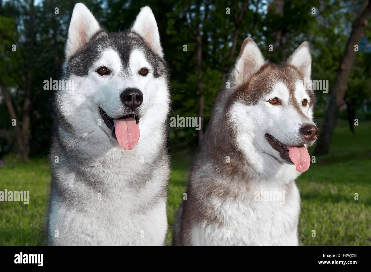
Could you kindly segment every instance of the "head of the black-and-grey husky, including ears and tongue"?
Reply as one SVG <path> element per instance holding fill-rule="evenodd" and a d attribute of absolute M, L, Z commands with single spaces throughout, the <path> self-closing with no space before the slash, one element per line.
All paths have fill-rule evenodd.
<path fill-rule="evenodd" d="M 168 104 L 166 94 L 157 92 L 157 86 L 167 85 L 167 67 L 154 16 L 147 9 L 131 30 L 119 33 L 106 32 L 90 12 L 79 17 L 74 13 L 66 46 L 65 76 L 79 90 L 71 95 L 73 101 L 78 106 L 91 99 L 96 105 L 91 114 L 104 121 L 102 132 L 125 150 L 137 145 L 139 120 L 148 107 Z"/>

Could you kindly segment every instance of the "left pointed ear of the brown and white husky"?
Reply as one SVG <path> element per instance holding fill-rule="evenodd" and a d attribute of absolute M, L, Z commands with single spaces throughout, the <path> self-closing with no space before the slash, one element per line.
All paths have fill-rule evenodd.
<path fill-rule="evenodd" d="M 249 79 L 265 63 L 262 52 L 251 38 L 246 38 L 241 46 L 240 55 L 234 65 L 233 75 L 236 85 Z"/>

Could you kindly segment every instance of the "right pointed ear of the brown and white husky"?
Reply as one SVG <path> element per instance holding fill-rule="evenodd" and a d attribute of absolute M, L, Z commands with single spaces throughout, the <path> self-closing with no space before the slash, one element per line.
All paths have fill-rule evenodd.
<path fill-rule="evenodd" d="M 311 78 L 312 57 L 308 42 L 303 42 L 286 62 L 294 66 L 308 80 Z"/>

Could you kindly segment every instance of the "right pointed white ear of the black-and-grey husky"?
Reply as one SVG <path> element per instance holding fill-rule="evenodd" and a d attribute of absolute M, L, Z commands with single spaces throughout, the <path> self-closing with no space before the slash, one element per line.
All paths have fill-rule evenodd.
<path fill-rule="evenodd" d="M 150 7 L 144 7 L 141 12 L 139 12 L 131 30 L 141 35 L 148 46 L 160 55 L 161 58 L 164 56 L 164 53 L 162 53 L 157 23 Z"/>

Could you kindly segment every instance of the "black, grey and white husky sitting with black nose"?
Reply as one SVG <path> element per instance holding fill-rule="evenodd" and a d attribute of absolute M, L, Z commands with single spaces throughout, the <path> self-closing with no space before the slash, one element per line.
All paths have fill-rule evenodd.
<path fill-rule="evenodd" d="M 50 245 L 163 245 L 169 73 L 149 7 L 108 33 L 73 9 L 50 152 Z"/>

